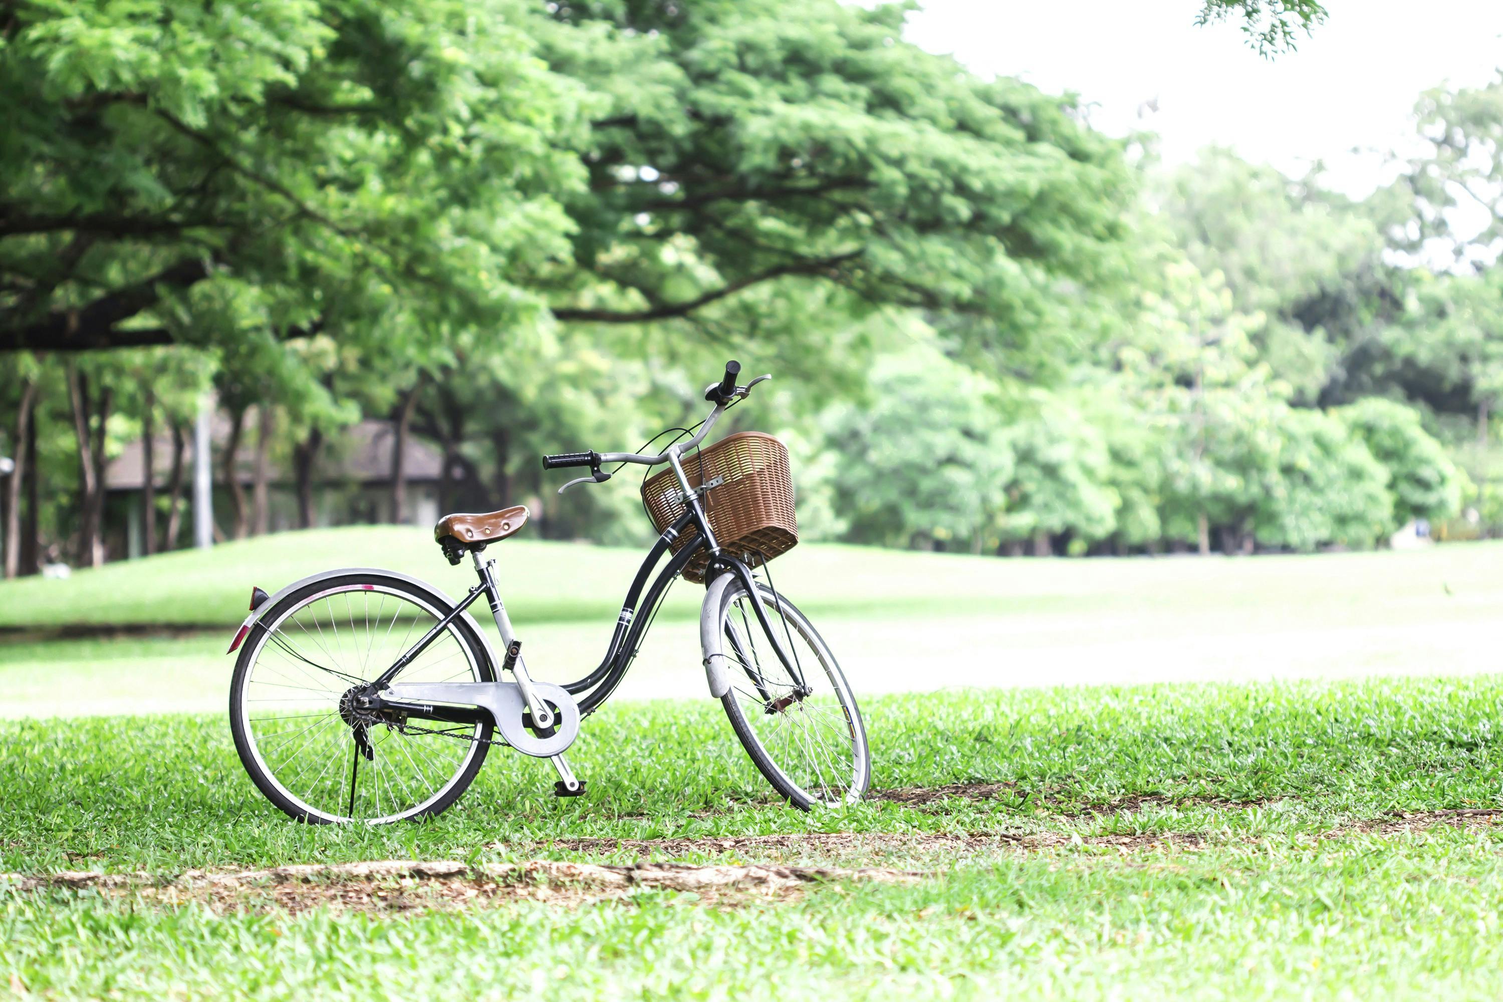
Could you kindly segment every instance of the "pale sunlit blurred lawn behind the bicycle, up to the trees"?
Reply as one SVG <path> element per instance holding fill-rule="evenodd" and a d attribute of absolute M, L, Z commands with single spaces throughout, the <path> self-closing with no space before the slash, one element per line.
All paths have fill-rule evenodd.
<path fill-rule="evenodd" d="M 567 681 L 598 664 L 640 554 L 525 539 L 491 553 L 534 673 Z M 473 581 L 419 530 L 359 527 L 0 583 L 0 690 L 9 696 L 0 718 L 219 711 L 231 669 L 224 649 L 249 586 L 274 590 L 350 563 L 406 571 L 449 595 Z M 1500 544 L 1204 560 L 998 560 L 815 544 L 780 559 L 774 574 L 858 690 L 875 694 L 1495 672 L 1500 563 Z M 669 592 L 622 697 L 703 691 L 700 595 L 687 583 Z M 152 623 L 212 628 L 177 638 L 35 632 Z"/>

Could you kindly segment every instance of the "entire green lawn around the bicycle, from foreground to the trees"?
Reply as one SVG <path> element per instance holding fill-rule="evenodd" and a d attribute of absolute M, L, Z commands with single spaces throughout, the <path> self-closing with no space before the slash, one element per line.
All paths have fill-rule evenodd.
<path fill-rule="evenodd" d="M 249 581 L 275 587 L 355 562 L 347 551 L 464 587 L 431 544 L 404 550 L 406 535 L 304 533 L 9 584 L 0 616 L 164 623 L 194 601 L 233 626 Z M 586 568 L 625 578 L 631 554 L 511 554 L 529 650 L 588 659 L 616 595 Z M 293 825 L 251 786 L 224 720 L 228 628 L 12 638 L 0 871 L 20 876 L 0 877 L 0 993 L 1495 997 L 1498 556 L 1004 562 L 801 547 L 776 565 L 779 584 L 819 610 L 866 694 L 875 768 L 867 802 L 816 814 L 771 801 L 700 696 L 684 586 L 643 652 L 642 678 L 660 682 L 639 696 L 693 699 L 592 717 L 570 753 L 586 798 L 555 799 L 546 763 L 499 750 L 445 816 L 374 831 Z M 975 667 L 998 662 L 1012 667 Z M 1390 678 L 1057 685 L 1087 662 L 1102 665 L 1093 681 Z M 897 693 L 936 685 L 951 688 Z M 443 885 L 458 904 L 434 897 L 437 882 L 328 874 L 304 888 L 307 906 L 269 891 L 170 897 L 200 871 L 370 859 L 460 861 L 469 876 Z M 571 898 L 547 879 L 488 897 L 482 876 L 639 859 L 902 879 L 842 870 L 777 894 L 633 885 Z M 48 885 L 78 870 L 147 882 Z"/>

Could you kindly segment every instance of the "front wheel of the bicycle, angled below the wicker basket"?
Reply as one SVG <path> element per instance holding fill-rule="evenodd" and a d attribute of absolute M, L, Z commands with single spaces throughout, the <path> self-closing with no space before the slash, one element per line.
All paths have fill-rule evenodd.
<path fill-rule="evenodd" d="M 872 783 L 872 751 L 855 694 L 830 644 L 809 617 L 765 584 L 758 584 L 758 590 L 768 623 L 783 631 L 780 640 L 785 653 L 792 655 L 794 670 L 813 691 L 803 699 L 792 697 L 795 681 L 762 629 L 745 586 L 738 581 L 726 589 L 717 613 L 724 637 L 726 670 L 730 673 L 730 690 L 720 703 L 730 727 L 762 777 L 794 807 L 807 811 L 816 804 L 854 804 Z M 733 637 L 738 631 L 739 640 Z M 815 664 L 809 662 L 810 653 Z M 779 703 L 783 705 L 771 709 Z M 773 733 L 779 720 L 795 721 L 785 727 L 785 733 L 797 735 L 792 742 L 780 742 Z M 774 724 L 759 727 L 762 721 Z M 830 744 L 819 747 L 821 738 Z M 800 748 L 800 744 L 804 747 Z M 842 748 L 837 747 L 843 744 L 848 744 L 848 759 L 839 754 Z M 810 783 L 810 778 L 816 781 Z"/>

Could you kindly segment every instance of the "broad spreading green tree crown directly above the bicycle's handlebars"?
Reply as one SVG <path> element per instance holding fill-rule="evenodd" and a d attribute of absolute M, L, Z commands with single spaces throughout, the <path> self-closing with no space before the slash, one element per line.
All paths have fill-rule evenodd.
<path fill-rule="evenodd" d="M 1063 282 L 1124 273 L 1121 143 L 1070 101 L 902 41 L 906 9 L 837 0 L 558 5 L 541 53 L 606 99 L 565 195 L 553 314 L 717 329 L 759 285 L 971 318 L 1025 349 Z M 821 314 L 764 330 L 828 326 Z"/>

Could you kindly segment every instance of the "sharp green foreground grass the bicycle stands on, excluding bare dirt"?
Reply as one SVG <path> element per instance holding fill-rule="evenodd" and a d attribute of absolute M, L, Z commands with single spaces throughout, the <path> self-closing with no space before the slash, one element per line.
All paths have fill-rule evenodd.
<path fill-rule="evenodd" d="M 370 858 L 633 858 L 561 837 L 818 831 L 1063 832 L 1079 846 L 915 855 L 915 886 L 705 909 L 642 892 L 558 909 L 213 915 L 90 892 L 0 892 L 0 984 L 42 994 L 412 997 L 1495 996 L 1503 838 L 1321 832 L 1393 811 L 1503 805 L 1503 679 L 1016 690 L 873 700 L 876 786 L 1015 781 L 1028 799 L 765 802 L 718 709 L 610 706 L 577 751 L 583 801 L 493 756 L 460 805 L 376 831 L 286 822 L 224 721 L 0 723 L 0 868 L 144 870 Z M 1160 798 L 1123 807 L 1133 798 Z M 1124 832 L 1199 850 L 1120 855 Z M 708 858 L 720 850 L 685 858 Z M 812 858 L 818 853 L 810 852 Z M 846 861 L 849 862 L 849 861 Z M 461 990 L 458 987 L 455 991 Z"/>

